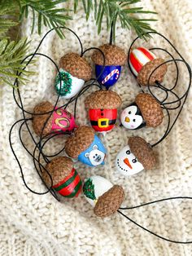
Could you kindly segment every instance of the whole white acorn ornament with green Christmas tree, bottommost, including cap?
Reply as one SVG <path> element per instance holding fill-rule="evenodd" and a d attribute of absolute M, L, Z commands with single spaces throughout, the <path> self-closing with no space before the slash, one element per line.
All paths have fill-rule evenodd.
<path fill-rule="evenodd" d="M 98 217 L 115 214 L 124 201 L 124 189 L 101 176 L 86 179 L 83 193 L 89 204 L 94 206 L 94 214 Z"/>

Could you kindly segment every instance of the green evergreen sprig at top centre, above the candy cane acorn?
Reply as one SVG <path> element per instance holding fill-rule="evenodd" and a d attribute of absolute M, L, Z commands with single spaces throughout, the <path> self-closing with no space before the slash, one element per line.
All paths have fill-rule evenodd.
<path fill-rule="evenodd" d="M 74 11 L 76 12 L 79 0 L 74 0 Z M 116 39 L 116 20 L 120 20 L 123 29 L 134 29 L 140 38 L 147 38 L 146 32 L 155 31 L 151 29 L 148 22 L 155 19 L 140 19 L 137 14 L 156 14 L 155 11 L 145 11 L 142 7 L 132 7 L 141 0 L 82 0 L 86 19 L 89 19 L 90 11 L 94 11 L 94 19 L 98 25 L 98 33 L 101 32 L 104 18 L 106 19 L 107 30 L 111 28 L 112 40 Z"/>

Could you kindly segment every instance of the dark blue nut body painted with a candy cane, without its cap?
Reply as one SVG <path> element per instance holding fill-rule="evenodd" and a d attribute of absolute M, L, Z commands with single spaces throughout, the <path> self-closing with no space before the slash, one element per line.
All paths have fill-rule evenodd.
<path fill-rule="evenodd" d="M 113 86 L 120 77 L 121 66 L 103 66 L 95 64 L 95 74 L 98 82 L 107 88 Z"/>

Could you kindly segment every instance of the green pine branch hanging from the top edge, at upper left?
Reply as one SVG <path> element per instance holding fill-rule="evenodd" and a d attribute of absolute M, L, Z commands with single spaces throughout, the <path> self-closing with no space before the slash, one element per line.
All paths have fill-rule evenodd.
<path fill-rule="evenodd" d="M 28 11 L 33 11 L 33 24 L 32 33 L 35 28 L 35 21 L 37 20 L 37 31 L 41 34 L 41 26 L 44 24 L 50 29 L 54 28 L 59 34 L 60 38 L 63 38 L 63 31 L 59 29 L 59 26 L 64 26 L 66 20 L 71 20 L 72 17 L 65 13 L 69 10 L 66 8 L 57 8 L 57 5 L 67 0 L 17 0 L 20 3 L 20 22 L 25 18 L 28 18 Z"/>

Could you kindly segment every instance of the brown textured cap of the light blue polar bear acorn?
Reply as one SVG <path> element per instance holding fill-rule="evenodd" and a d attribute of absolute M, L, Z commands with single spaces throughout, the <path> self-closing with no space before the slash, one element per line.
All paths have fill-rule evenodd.
<path fill-rule="evenodd" d="M 65 143 L 65 152 L 69 157 L 76 158 L 89 148 L 94 141 L 94 130 L 89 126 L 79 126 Z"/>

